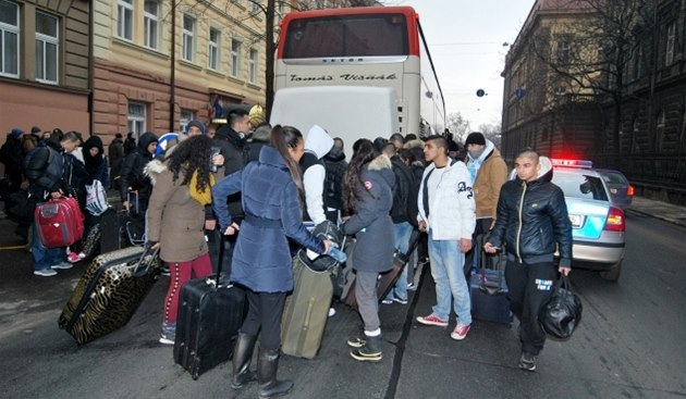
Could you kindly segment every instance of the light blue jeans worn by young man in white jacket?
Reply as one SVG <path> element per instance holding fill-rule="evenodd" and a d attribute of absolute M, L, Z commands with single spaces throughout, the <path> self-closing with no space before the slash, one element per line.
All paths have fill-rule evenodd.
<path fill-rule="evenodd" d="M 429 262 L 431 276 L 436 282 L 436 306 L 433 314 L 441 320 L 450 317 L 450 306 L 454 299 L 457 323 L 471 324 L 471 301 L 465 279 L 463 263 L 465 254 L 460 251 L 457 240 L 433 240 L 429 230 Z"/>

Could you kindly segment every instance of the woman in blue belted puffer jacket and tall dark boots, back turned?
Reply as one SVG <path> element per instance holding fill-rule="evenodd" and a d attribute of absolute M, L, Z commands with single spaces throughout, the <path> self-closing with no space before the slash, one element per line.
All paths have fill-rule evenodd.
<path fill-rule="evenodd" d="M 259 397 L 287 394 L 291 381 L 278 381 L 281 315 L 286 292 L 293 289 L 293 266 L 287 238 L 327 253 L 330 241 L 313 236 L 303 225 L 303 180 L 298 161 L 303 135 L 294 127 L 274 126 L 271 146 L 264 146 L 259 160 L 229 175 L 212 188 L 213 208 L 223 234 L 241 229 L 233 253 L 231 280 L 247 288 L 248 314 L 241 326 L 233 354 L 234 389 L 255 379 L 249 371 L 253 348 L 261 329 L 257 379 Z M 232 222 L 226 197 L 242 192 L 245 219 Z"/>

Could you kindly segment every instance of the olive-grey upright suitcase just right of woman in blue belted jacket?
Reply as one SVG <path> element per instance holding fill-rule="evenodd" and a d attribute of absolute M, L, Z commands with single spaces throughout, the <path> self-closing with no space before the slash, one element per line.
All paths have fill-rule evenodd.
<path fill-rule="evenodd" d="M 313 359 L 321 345 L 333 297 L 331 270 L 314 271 L 301 257 L 293 258 L 295 285 L 285 300 L 281 319 L 281 350 L 285 354 Z"/>

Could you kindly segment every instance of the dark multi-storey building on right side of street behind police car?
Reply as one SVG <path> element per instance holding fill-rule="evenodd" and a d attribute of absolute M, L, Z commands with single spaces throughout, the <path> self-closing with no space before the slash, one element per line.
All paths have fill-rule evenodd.
<path fill-rule="evenodd" d="M 686 203 L 686 1 L 637 3 L 622 38 L 595 43 L 581 32 L 611 16 L 588 1 L 534 4 L 503 71 L 503 153 L 529 146 L 590 159 L 622 171 L 639 194 Z"/>

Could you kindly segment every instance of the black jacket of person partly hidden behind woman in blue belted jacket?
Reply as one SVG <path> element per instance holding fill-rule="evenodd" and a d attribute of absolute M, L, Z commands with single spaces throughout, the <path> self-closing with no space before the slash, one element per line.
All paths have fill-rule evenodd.
<path fill-rule="evenodd" d="M 221 148 L 221 154 L 224 157 L 224 165 L 219 170 L 219 177 L 229 176 L 246 165 L 249 149 L 246 147 L 245 138 L 234 129 L 228 125 L 220 127 L 215 135 L 213 144 Z M 241 222 L 243 220 L 241 192 L 229 196 L 226 203 L 234 221 Z"/>

